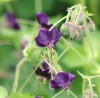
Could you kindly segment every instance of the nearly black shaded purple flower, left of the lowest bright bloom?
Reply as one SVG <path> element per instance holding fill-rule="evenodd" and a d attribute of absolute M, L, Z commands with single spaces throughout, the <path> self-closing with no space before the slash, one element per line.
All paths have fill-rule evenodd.
<path fill-rule="evenodd" d="M 42 69 L 40 67 L 37 68 L 35 71 L 36 75 L 40 77 L 40 80 L 43 80 L 43 78 L 50 79 L 51 73 L 49 72 L 49 67 L 46 62 L 42 63 Z"/>

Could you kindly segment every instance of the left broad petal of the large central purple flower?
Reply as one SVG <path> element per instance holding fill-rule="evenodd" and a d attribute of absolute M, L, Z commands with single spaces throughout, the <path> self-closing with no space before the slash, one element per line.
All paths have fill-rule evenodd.
<path fill-rule="evenodd" d="M 35 38 L 36 45 L 39 47 L 44 47 L 48 45 L 49 41 L 49 30 L 40 30 L 38 36 Z"/>

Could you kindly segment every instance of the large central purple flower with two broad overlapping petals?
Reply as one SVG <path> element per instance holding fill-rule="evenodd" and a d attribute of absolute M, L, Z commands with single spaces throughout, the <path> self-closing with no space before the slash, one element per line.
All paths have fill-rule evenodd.
<path fill-rule="evenodd" d="M 60 37 L 61 34 L 56 28 L 52 29 L 51 31 L 48 29 L 43 29 L 39 31 L 38 36 L 35 38 L 35 42 L 39 47 L 48 46 L 49 48 L 52 48 Z"/>

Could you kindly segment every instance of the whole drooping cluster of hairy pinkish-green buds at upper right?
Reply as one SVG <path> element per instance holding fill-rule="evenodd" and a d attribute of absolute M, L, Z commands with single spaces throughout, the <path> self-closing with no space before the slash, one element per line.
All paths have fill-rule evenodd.
<path fill-rule="evenodd" d="M 76 5 L 68 9 L 66 21 L 62 24 L 60 31 L 71 39 L 81 39 L 87 31 L 94 31 L 93 21 L 85 15 L 85 7 Z"/>

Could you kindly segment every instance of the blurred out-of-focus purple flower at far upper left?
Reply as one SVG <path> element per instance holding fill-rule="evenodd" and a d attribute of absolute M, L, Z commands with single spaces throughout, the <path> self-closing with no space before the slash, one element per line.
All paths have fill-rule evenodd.
<path fill-rule="evenodd" d="M 6 19 L 7 19 L 7 26 L 9 28 L 15 29 L 15 30 L 19 30 L 20 26 L 16 21 L 15 16 L 12 13 L 7 13 L 6 14 Z"/>

